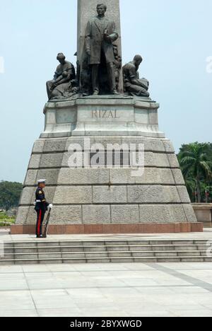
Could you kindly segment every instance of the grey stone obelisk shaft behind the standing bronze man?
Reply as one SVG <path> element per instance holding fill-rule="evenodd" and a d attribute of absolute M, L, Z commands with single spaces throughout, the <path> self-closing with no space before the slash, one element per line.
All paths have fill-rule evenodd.
<path fill-rule="evenodd" d="M 97 15 L 96 7 L 98 4 L 107 6 L 106 16 L 116 23 L 116 30 L 119 33 L 119 38 L 115 45 L 118 46 L 119 56 L 122 57 L 122 37 L 121 37 L 121 20 L 119 0 L 78 0 L 78 27 L 77 27 L 77 54 L 78 61 L 81 63 L 83 48 L 85 43 L 86 25 L 90 18 Z M 123 91 L 122 75 L 119 83 L 119 91 Z"/>

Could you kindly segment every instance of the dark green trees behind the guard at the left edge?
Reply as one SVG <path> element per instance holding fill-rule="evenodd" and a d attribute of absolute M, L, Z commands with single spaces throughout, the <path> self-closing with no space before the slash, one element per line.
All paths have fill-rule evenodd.
<path fill-rule="evenodd" d="M 20 182 L 0 182 L 0 208 L 18 207 L 23 184 Z"/>

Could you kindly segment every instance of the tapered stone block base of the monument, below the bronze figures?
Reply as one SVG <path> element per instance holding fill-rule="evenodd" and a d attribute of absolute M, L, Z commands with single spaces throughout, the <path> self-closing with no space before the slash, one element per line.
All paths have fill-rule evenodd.
<path fill-rule="evenodd" d="M 47 103 L 11 232 L 35 232 L 39 178 L 46 178 L 46 198 L 54 205 L 50 233 L 202 231 L 172 142 L 158 129 L 158 108 L 148 98 L 121 95 Z M 100 146 L 107 156 L 108 144 L 143 146 L 143 165 L 90 165 Z M 75 150 L 80 166 L 70 165 Z"/>

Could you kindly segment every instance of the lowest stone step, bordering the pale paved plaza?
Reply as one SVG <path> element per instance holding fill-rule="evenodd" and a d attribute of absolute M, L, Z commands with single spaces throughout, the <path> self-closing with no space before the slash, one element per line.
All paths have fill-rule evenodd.
<path fill-rule="evenodd" d="M 60 263 L 124 263 L 124 262 L 212 262 L 212 257 L 72 257 L 0 260 L 0 265 L 60 264 Z"/>

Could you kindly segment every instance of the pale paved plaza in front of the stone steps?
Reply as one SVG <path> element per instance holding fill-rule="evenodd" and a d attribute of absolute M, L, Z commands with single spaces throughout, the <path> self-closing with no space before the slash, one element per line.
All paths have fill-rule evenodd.
<path fill-rule="evenodd" d="M 0 316 L 212 316 L 212 263 L 0 267 Z"/>

